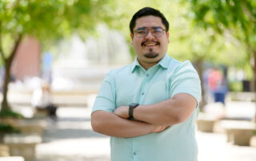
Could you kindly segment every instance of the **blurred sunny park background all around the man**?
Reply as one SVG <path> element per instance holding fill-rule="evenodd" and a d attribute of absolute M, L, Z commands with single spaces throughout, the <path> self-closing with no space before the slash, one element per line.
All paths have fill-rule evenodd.
<path fill-rule="evenodd" d="M 254 0 L 0 0 L 0 160 L 110 160 L 90 110 L 106 73 L 134 61 L 145 6 L 201 79 L 198 161 L 256 160 Z"/>

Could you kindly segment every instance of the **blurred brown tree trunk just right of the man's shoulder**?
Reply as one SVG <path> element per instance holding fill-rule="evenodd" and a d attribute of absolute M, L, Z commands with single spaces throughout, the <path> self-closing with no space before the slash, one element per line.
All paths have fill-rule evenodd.
<path fill-rule="evenodd" d="M 202 58 L 198 58 L 196 60 L 196 68 L 198 70 L 198 75 L 199 75 L 199 78 L 200 78 L 200 81 L 201 81 L 201 88 L 202 88 L 202 100 L 201 100 L 201 102 L 199 104 L 200 112 L 202 112 L 203 111 L 203 107 L 207 103 L 206 98 L 205 98 L 205 91 L 204 91 L 204 88 L 203 88 L 203 77 L 202 77 L 203 64 L 202 64 Z"/>

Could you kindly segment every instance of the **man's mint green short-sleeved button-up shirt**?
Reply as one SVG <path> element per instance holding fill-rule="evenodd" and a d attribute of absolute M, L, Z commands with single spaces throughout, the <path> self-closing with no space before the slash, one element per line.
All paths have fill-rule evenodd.
<path fill-rule="evenodd" d="M 102 82 L 93 111 L 114 112 L 130 103 L 155 104 L 185 92 L 199 102 L 201 85 L 190 61 L 180 62 L 167 54 L 157 65 L 145 70 L 137 59 L 133 64 L 111 70 Z M 184 100 L 186 101 L 186 100 Z M 133 138 L 110 138 L 112 161 L 196 161 L 194 136 L 198 107 L 189 119 L 163 132 Z"/>

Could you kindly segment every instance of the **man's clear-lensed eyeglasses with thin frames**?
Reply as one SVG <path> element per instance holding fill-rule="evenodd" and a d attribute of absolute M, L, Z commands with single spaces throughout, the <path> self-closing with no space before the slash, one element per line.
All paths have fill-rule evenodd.
<path fill-rule="evenodd" d="M 162 37 L 164 31 L 166 29 L 162 29 L 162 27 L 141 27 L 134 30 L 134 35 L 138 38 L 143 38 L 150 32 L 154 37 Z"/>

